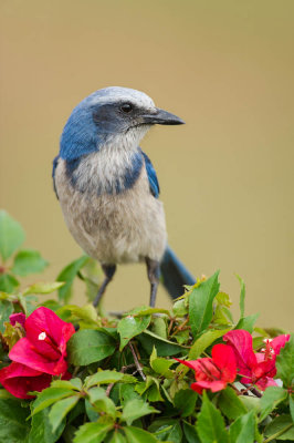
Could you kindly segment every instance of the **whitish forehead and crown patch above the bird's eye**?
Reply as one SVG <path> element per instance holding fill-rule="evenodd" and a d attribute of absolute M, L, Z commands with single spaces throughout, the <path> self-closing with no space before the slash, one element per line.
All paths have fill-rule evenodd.
<path fill-rule="evenodd" d="M 132 102 L 140 107 L 155 107 L 154 101 L 144 92 L 119 86 L 111 86 L 98 90 L 87 96 L 85 102 L 90 105 Z"/>

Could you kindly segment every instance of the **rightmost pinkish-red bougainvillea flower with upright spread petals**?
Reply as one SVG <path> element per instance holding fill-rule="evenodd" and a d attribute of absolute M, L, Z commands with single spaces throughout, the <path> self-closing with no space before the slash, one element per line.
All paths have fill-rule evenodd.
<path fill-rule="evenodd" d="M 256 384 L 262 391 L 267 387 L 276 385 L 273 380 L 276 374 L 275 359 L 288 339 L 290 334 L 265 340 L 264 350 L 254 353 L 252 336 L 248 331 L 237 329 L 223 336 L 223 340 L 234 352 L 238 372 L 242 375 L 241 382 Z"/>

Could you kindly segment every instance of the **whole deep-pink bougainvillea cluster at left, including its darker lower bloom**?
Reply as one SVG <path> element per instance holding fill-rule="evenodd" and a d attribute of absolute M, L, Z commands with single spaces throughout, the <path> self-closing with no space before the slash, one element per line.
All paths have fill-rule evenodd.
<path fill-rule="evenodd" d="M 19 323 L 25 331 L 10 350 L 12 363 L 0 370 L 1 384 L 19 399 L 31 399 L 30 391 L 42 391 L 52 375 L 70 379 L 66 342 L 75 329 L 61 320 L 51 309 L 41 307 L 27 319 L 24 313 L 10 316 L 12 326 Z"/>

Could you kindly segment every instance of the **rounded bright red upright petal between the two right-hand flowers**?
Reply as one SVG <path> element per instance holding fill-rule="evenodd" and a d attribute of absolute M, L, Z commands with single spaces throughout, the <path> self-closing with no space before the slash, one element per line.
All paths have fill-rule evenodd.
<path fill-rule="evenodd" d="M 237 375 L 237 362 L 233 349 L 228 344 L 216 344 L 212 348 L 213 363 L 221 371 L 221 380 L 232 382 Z"/>

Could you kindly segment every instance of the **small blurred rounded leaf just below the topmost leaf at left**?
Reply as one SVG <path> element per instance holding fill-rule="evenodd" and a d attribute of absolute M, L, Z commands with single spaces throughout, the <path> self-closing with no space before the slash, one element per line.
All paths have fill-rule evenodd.
<path fill-rule="evenodd" d="M 29 274 L 42 272 L 48 266 L 41 254 L 34 249 L 20 250 L 14 257 L 12 272 L 25 277 Z"/>

